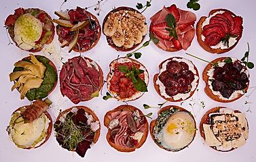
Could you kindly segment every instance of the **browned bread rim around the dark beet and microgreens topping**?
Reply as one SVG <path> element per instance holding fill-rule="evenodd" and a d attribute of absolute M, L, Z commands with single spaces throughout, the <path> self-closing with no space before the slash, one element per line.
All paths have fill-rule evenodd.
<path fill-rule="evenodd" d="M 71 107 L 69 109 L 66 109 L 65 111 L 62 111 L 58 117 L 56 118 L 56 121 L 58 121 L 60 119 L 60 117 L 62 117 L 62 115 L 64 115 L 65 113 L 69 113 L 69 111 L 71 111 L 74 107 Z M 75 108 L 77 109 L 84 109 L 84 111 L 86 113 L 88 113 L 89 115 L 92 115 L 94 121 L 98 121 L 99 126 L 100 126 L 100 120 L 98 119 L 96 113 L 94 113 L 94 111 L 92 111 L 92 109 L 90 109 L 89 107 L 85 107 L 85 106 L 75 106 Z M 98 128 L 98 130 L 96 130 L 94 132 L 94 143 L 96 143 L 98 141 L 98 138 L 100 137 L 100 128 Z M 71 150 L 71 151 L 75 151 L 75 150 Z"/>

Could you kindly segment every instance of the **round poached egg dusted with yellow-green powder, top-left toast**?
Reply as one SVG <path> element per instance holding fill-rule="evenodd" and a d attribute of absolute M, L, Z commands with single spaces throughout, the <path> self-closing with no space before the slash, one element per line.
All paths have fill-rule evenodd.
<path fill-rule="evenodd" d="M 29 51 L 35 47 L 43 32 L 43 24 L 31 14 L 23 14 L 14 24 L 14 40 L 21 49 Z"/>

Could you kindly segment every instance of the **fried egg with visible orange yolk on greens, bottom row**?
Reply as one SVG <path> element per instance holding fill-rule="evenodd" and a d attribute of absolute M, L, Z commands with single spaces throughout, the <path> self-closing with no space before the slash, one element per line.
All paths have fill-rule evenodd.
<path fill-rule="evenodd" d="M 186 111 L 179 111 L 169 117 L 161 133 L 164 148 L 182 149 L 194 139 L 195 121 Z"/>

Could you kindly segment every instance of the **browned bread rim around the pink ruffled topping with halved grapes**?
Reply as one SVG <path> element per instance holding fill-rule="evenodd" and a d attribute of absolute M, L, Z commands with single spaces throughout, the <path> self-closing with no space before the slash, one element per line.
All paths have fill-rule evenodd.
<path fill-rule="evenodd" d="M 136 148 L 140 148 L 145 143 L 145 141 L 147 140 L 147 135 L 149 134 L 149 124 L 147 122 L 147 119 L 145 118 L 146 123 L 145 123 L 144 126 L 145 126 L 146 130 L 143 134 L 143 137 L 141 138 L 141 140 L 139 142 L 139 146 L 136 146 L 136 147 L 133 147 L 133 148 L 122 148 L 121 146 L 117 146 L 115 143 L 113 143 L 109 140 L 111 130 L 108 127 L 109 123 L 110 123 L 110 119 L 109 119 L 109 117 L 107 117 L 107 115 L 110 115 L 111 113 L 114 113 L 115 111 L 136 111 L 136 110 L 139 111 L 140 115 L 144 115 L 143 112 L 140 109 L 138 109 L 138 108 L 136 108 L 132 105 L 120 105 L 120 106 L 116 107 L 115 109 L 113 109 L 111 111 L 108 111 L 104 116 L 104 126 L 108 130 L 107 135 L 106 135 L 107 142 L 109 142 L 109 145 L 111 147 L 115 148 L 115 150 L 117 150 L 117 151 L 129 153 L 129 152 L 135 151 Z"/>

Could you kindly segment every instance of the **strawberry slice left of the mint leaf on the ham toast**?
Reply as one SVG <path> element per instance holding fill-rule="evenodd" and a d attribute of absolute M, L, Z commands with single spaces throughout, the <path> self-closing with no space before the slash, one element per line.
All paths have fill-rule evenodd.
<path fill-rule="evenodd" d="M 166 28 L 169 28 L 166 22 L 162 22 L 160 24 L 151 25 L 150 30 L 157 34 L 160 38 L 169 39 L 169 33 Z"/>

